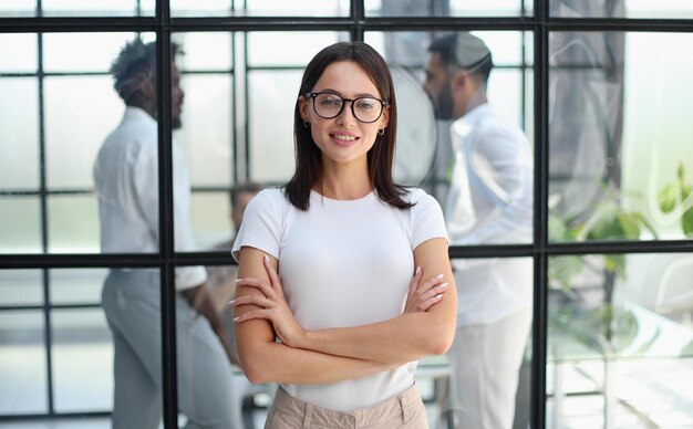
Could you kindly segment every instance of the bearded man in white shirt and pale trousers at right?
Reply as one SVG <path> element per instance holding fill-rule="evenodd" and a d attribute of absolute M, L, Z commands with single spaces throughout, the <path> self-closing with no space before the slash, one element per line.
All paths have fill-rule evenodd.
<path fill-rule="evenodd" d="M 438 118 L 453 119 L 455 156 L 445 218 L 451 244 L 530 243 L 531 148 L 488 104 L 493 69 L 486 44 L 469 33 L 430 46 L 424 91 Z M 531 326 L 530 258 L 453 261 L 457 329 L 449 352 L 455 428 L 510 429 L 518 372 Z"/>

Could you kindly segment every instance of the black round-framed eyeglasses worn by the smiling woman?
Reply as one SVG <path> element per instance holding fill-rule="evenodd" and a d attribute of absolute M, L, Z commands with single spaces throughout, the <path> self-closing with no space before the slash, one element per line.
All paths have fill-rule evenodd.
<path fill-rule="evenodd" d="M 351 113 L 366 124 L 380 119 L 387 102 L 374 97 L 344 98 L 332 93 L 306 93 L 313 100 L 313 111 L 323 119 L 332 119 L 341 115 L 344 102 L 351 102 Z"/>

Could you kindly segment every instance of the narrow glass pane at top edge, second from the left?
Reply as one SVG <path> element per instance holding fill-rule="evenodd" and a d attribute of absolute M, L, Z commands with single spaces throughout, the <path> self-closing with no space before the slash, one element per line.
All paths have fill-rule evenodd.
<path fill-rule="evenodd" d="M 349 0 L 170 0 L 170 13 L 178 17 L 346 17 Z"/>

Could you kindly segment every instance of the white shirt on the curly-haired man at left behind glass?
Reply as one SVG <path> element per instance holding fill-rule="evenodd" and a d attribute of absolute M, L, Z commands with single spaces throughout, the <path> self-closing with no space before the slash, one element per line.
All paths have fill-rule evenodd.
<path fill-rule="evenodd" d="M 196 250 L 190 228 L 190 180 L 183 148 L 172 146 L 174 237 L 177 251 Z M 156 253 L 158 229 L 158 127 L 138 107 L 127 107 L 121 124 L 106 137 L 94 164 L 99 197 L 101 251 Z M 176 289 L 205 282 L 201 266 L 176 269 Z"/>

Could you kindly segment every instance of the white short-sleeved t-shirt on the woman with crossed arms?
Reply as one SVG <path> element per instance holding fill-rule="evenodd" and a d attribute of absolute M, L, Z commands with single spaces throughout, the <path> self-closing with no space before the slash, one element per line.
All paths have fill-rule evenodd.
<path fill-rule="evenodd" d="M 307 329 L 358 326 L 402 314 L 414 274 L 414 249 L 447 238 L 437 201 L 421 189 L 411 209 L 381 201 L 375 192 L 333 200 L 317 192 L 310 207 L 293 207 L 279 189 L 250 201 L 234 243 L 279 260 L 287 302 Z M 341 411 L 369 407 L 411 387 L 415 363 L 333 384 L 282 385 L 296 398 Z"/>

